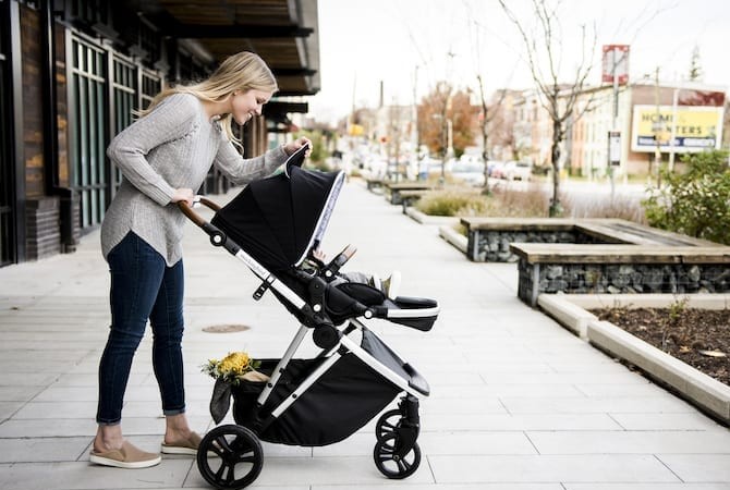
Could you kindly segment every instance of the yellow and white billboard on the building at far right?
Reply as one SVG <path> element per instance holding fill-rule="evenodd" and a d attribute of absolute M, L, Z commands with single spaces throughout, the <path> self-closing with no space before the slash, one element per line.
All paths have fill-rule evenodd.
<path fill-rule="evenodd" d="M 633 117 L 632 151 L 656 151 L 657 145 L 676 152 L 720 148 L 721 107 L 634 106 Z"/>

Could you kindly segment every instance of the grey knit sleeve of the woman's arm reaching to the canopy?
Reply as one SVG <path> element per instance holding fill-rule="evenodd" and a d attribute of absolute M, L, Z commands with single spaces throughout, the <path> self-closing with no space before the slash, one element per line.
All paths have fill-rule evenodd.
<path fill-rule="evenodd" d="M 214 164 L 236 185 L 263 179 L 287 161 L 288 155 L 283 146 L 270 149 L 259 157 L 243 158 L 222 132 L 220 137 Z"/>

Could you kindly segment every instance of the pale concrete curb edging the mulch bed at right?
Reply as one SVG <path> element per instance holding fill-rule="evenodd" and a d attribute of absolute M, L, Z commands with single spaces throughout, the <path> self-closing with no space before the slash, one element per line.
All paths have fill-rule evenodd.
<path fill-rule="evenodd" d="M 608 321 L 599 321 L 584 307 L 601 307 L 611 302 L 629 303 L 632 306 L 667 306 L 677 301 L 677 296 L 650 295 L 642 301 L 638 295 L 616 295 L 622 297 L 600 298 L 585 297 L 575 299 L 576 295 L 547 295 L 540 294 L 537 304 L 559 323 L 571 330 L 581 339 L 589 342 L 601 351 L 625 360 L 644 371 L 649 378 L 669 387 L 672 392 L 706 413 L 711 414 L 725 425 L 730 425 L 730 387 L 701 372 L 661 350 L 635 338 L 623 329 Z M 658 296 L 665 296 L 664 303 Z M 715 301 L 711 297 L 715 296 Z M 582 303 L 584 306 L 573 303 Z M 593 302 L 593 303 L 592 303 Z M 592 303 L 585 306 L 585 304 Z M 642 303 L 642 304 L 640 304 Z M 645 303 L 645 304 L 644 304 Z M 728 295 L 702 295 L 690 306 L 723 308 L 728 304 Z"/>

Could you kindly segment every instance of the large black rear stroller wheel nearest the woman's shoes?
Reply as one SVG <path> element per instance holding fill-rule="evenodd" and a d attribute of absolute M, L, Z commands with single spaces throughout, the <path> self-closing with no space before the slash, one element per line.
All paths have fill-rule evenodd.
<path fill-rule="evenodd" d="M 200 475 L 219 489 L 239 489 L 253 483 L 263 466 L 261 443 L 245 427 L 216 427 L 203 438 L 197 450 Z"/>

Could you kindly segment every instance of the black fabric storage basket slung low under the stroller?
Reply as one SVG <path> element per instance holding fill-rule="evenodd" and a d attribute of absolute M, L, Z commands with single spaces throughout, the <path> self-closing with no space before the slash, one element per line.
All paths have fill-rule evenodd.
<path fill-rule="evenodd" d="M 366 332 L 362 347 L 382 345 L 372 332 Z M 367 341 L 365 340 L 367 339 Z M 374 357 L 394 370 L 406 381 L 409 369 L 391 352 L 376 350 Z M 267 420 L 272 409 L 282 403 L 325 358 L 292 359 L 277 387 L 263 407 L 256 399 L 265 382 L 243 382 L 233 389 L 233 418 L 268 442 L 320 446 L 342 441 L 386 408 L 401 388 L 390 382 L 353 353 L 344 354 L 312 384 L 278 418 Z M 261 362 L 259 370 L 270 375 L 278 360 Z M 416 375 L 417 376 L 417 375 Z M 270 424 L 268 424 L 270 422 Z"/>

